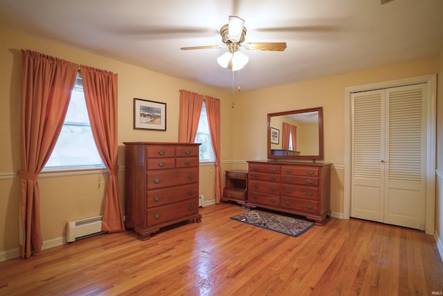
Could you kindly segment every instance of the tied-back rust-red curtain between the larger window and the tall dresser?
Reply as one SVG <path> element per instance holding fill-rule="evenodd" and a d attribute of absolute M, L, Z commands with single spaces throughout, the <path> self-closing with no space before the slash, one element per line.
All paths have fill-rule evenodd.
<path fill-rule="evenodd" d="M 84 98 L 98 152 L 109 172 L 102 231 L 125 230 L 118 189 L 117 74 L 80 66 Z"/>

